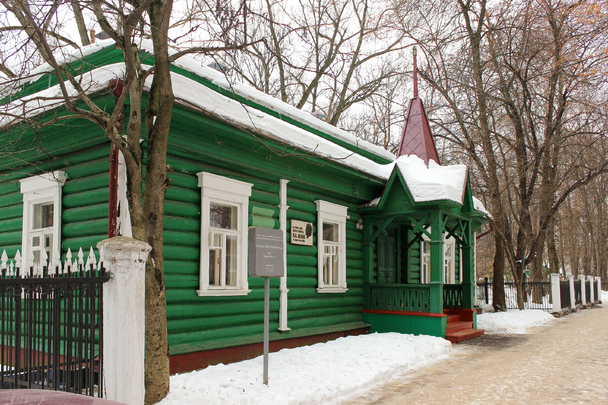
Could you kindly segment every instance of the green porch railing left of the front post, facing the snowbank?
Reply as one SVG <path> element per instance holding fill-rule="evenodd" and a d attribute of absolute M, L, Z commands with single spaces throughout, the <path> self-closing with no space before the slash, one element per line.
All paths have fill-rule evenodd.
<path fill-rule="evenodd" d="M 427 284 L 372 284 L 368 309 L 428 312 L 429 297 Z"/>

